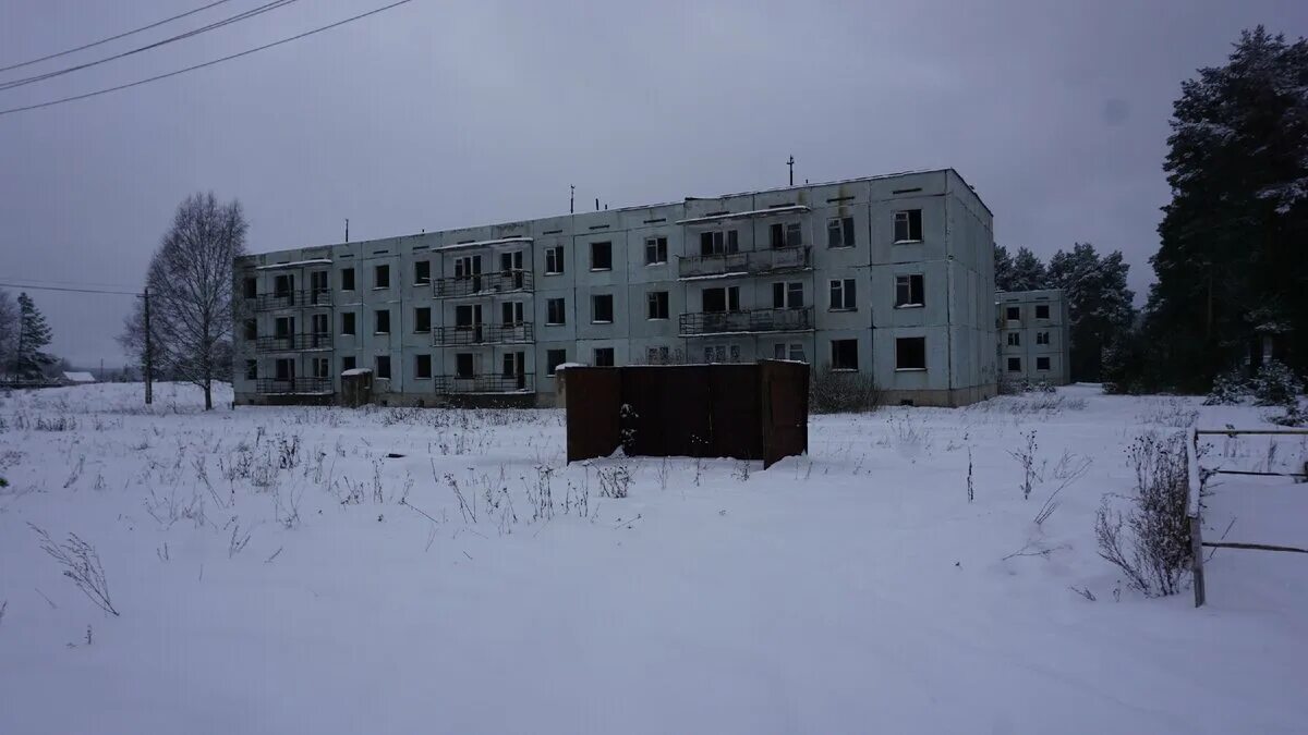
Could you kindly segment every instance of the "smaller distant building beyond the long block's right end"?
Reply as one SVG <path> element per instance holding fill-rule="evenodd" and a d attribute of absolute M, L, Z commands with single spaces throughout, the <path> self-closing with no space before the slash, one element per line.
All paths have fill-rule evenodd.
<path fill-rule="evenodd" d="M 999 373 L 1005 381 L 1071 381 L 1067 298 L 1059 289 L 995 294 Z"/>

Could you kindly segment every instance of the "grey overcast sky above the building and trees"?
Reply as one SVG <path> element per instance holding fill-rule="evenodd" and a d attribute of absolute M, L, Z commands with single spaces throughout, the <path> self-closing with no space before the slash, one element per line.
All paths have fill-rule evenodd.
<path fill-rule="evenodd" d="M 0 0 L 0 67 L 208 0 Z M 252 8 L 201 14 L 0 81 Z M 388 0 L 300 0 L 29 86 L 0 109 L 275 41 Z M 454 7 L 459 5 L 459 7 Z M 156 84 L 0 116 L 0 281 L 139 286 L 178 201 L 239 199 L 252 251 L 906 169 L 957 169 L 995 241 L 1122 250 L 1151 280 L 1182 78 L 1303 0 L 493 3 L 413 0 Z M 16 289 L 10 289 L 16 290 Z M 31 292 L 77 365 L 123 362 L 131 298 Z"/>

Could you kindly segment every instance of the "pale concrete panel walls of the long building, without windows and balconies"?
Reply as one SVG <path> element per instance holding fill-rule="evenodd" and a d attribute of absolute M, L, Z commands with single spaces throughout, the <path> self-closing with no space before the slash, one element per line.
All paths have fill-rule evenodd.
<path fill-rule="evenodd" d="M 797 209 L 806 207 L 807 211 Z M 776 214 L 732 217 L 743 212 L 778 208 Z M 787 209 L 789 208 L 789 209 Z M 895 213 L 906 209 L 922 212 L 922 237 L 917 242 L 896 243 Z M 727 213 L 727 216 L 723 216 Z M 704 217 L 708 221 L 683 222 Z M 840 238 L 829 242 L 832 221 L 844 228 L 853 224 L 853 243 Z M 786 273 L 734 276 L 714 280 L 683 279 L 683 258 L 700 255 L 700 233 L 732 229 L 740 252 L 768 251 L 773 224 L 797 224 L 803 245 L 810 248 L 810 267 Z M 841 233 L 844 230 L 841 229 Z M 343 243 L 327 247 L 286 250 L 252 255 L 237 262 L 237 285 L 246 273 L 259 279 L 259 293 L 271 293 L 272 277 L 294 272 L 296 289 L 309 286 L 309 272 L 330 272 L 332 305 L 328 314 L 332 333 L 331 357 L 334 387 L 343 368 L 343 358 L 353 357 L 360 368 L 374 368 L 378 356 L 391 358 L 391 379 L 379 382 L 390 390 L 392 403 L 439 403 L 436 385 L 441 375 L 454 375 L 459 353 L 472 353 L 479 373 L 497 374 L 505 352 L 526 353 L 526 371 L 532 374 L 542 403 L 551 403 L 553 377 L 548 374 L 551 350 L 565 350 L 568 361 L 593 362 L 596 349 L 613 349 L 615 362 L 642 364 L 650 350 L 661 354 L 666 348 L 674 361 L 702 361 L 723 354 L 742 361 L 770 358 L 782 345 L 785 354 L 802 353 L 811 364 L 824 368 L 831 362 L 832 341 L 858 340 L 858 370 L 867 371 L 892 400 L 918 404 L 957 405 L 994 394 L 997 378 L 994 324 L 994 265 L 991 216 L 976 194 L 952 170 L 900 174 L 854 179 L 831 184 L 786 187 L 772 191 L 726 195 L 710 199 L 687 199 L 680 203 L 634 207 L 600 212 L 582 212 L 526 222 L 508 222 L 426 233 L 370 242 Z M 667 259 L 647 264 L 647 238 L 667 238 Z M 530 238 L 525 242 L 487 243 L 504 238 Z M 460 243 L 485 243 L 460 247 Z M 591 245 L 612 245 L 612 267 L 591 267 Z M 564 272 L 547 272 L 547 251 L 561 247 Z M 430 262 L 433 280 L 453 277 L 458 258 L 480 255 L 483 273 L 500 269 L 500 255 L 523 251 L 523 267 L 531 272 L 534 288 L 513 294 L 480 294 L 476 297 L 436 298 L 430 285 L 413 282 L 413 263 Z M 330 264 L 290 265 L 284 269 L 255 269 L 277 263 L 330 259 Z M 390 265 L 391 284 L 373 285 L 373 268 Z M 340 273 L 356 269 L 356 289 L 340 289 Z M 895 306 L 895 277 L 918 273 L 923 277 L 926 298 L 921 307 Z M 852 279 L 857 298 L 853 309 L 833 310 L 831 282 Z M 794 332 L 752 332 L 731 335 L 679 333 L 679 316 L 702 310 L 702 293 L 710 288 L 739 289 L 740 309 L 772 309 L 773 284 L 799 282 L 803 305 L 811 309 L 812 328 Z M 647 294 L 667 292 L 668 318 L 647 318 Z M 238 290 L 239 293 L 239 290 Z M 593 316 L 595 294 L 613 299 L 611 323 L 598 323 Z M 548 303 L 564 301 L 565 320 L 549 324 Z M 239 299 L 238 299 L 239 301 Z M 432 310 L 433 332 L 453 326 L 459 305 L 481 306 L 483 323 L 497 324 L 504 302 L 522 302 L 523 314 L 532 323 L 530 344 L 438 347 L 433 333 L 413 330 L 415 309 Z M 391 330 L 374 330 L 375 313 L 390 310 Z M 238 307 L 239 310 L 239 307 Z M 340 333 L 341 314 L 356 314 L 354 336 Z M 277 315 L 294 315 L 297 331 L 307 331 L 310 311 L 290 309 L 260 311 L 259 333 L 271 335 Z M 238 322 L 243 319 L 237 315 Z M 254 381 L 245 379 L 245 360 L 259 364 L 259 375 L 271 377 L 277 358 L 297 362 L 297 374 L 311 374 L 309 353 L 255 352 L 243 344 L 237 324 L 238 364 L 235 392 L 238 403 L 259 403 Z M 904 369 L 896 364 L 896 340 L 925 337 L 925 369 Z M 416 378 L 415 365 L 421 354 L 430 354 L 433 378 Z"/>

